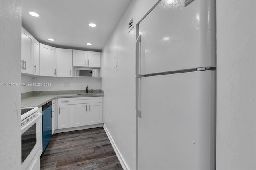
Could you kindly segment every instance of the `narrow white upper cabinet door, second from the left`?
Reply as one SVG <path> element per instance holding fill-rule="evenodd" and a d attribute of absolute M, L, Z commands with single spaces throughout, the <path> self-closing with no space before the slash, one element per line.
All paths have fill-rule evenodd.
<path fill-rule="evenodd" d="M 40 75 L 40 63 L 39 63 L 40 43 L 33 38 L 33 74 Z"/>

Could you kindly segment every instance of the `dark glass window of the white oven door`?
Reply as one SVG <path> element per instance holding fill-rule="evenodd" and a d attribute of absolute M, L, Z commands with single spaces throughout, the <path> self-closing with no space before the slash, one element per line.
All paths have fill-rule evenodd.
<path fill-rule="evenodd" d="M 24 162 L 35 145 L 36 123 L 21 135 L 21 162 Z"/>

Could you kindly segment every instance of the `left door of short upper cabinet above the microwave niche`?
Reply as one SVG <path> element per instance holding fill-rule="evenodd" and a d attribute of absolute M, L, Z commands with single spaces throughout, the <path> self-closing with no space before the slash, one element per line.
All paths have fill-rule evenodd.
<path fill-rule="evenodd" d="M 85 67 L 87 65 L 87 51 L 73 50 L 73 66 Z"/>

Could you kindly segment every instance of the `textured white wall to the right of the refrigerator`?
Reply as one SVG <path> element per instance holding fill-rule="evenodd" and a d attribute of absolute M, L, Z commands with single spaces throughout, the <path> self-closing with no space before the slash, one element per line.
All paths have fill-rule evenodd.
<path fill-rule="evenodd" d="M 256 169 L 256 1 L 217 1 L 216 169 Z"/>

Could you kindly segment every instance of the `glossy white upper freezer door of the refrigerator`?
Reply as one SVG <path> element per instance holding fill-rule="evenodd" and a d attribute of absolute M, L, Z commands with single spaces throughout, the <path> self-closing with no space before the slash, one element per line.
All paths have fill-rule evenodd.
<path fill-rule="evenodd" d="M 162 0 L 138 25 L 140 74 L 216 67 L 216 2 Z"/>

